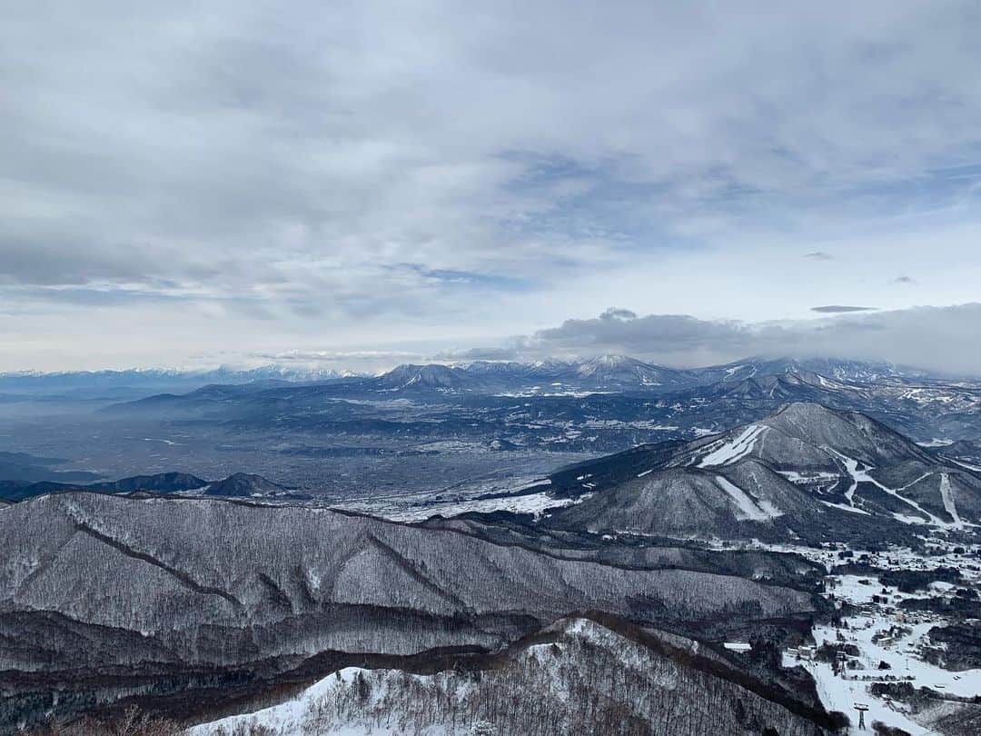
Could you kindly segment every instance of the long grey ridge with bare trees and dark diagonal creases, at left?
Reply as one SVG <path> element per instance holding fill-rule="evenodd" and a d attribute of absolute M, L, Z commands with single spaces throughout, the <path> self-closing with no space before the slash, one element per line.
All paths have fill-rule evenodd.
<path fill-rule="evenodd" d="M 0 730 L 5 718 L 46 717 L 32 684 L 42 680 L 79 693 L 61 696 L 64 712 L 84 706 L 91 683 L 111 699 L 137 672 L 148 690 L 193 689 L 201 683 L 174 678 L 274 677 L 366 653 L 490 653 L 577 610 L 685 628 L 820 605 L 807 584 L 225 499 L 44 496 L 0 509 L 0 538 L 0 673 L 34 673 L 0 677 Z"/>

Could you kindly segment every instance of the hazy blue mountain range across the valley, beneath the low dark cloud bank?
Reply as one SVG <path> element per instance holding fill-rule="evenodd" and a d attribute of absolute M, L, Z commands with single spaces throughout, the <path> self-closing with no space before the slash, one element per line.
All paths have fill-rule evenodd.
<path fill-rule="evenodd" d="M 513 403 L 516 397 L 524 399 L 520 408 Z M 406 423 L 402 409 L 387 403 L 394 398 L 412 401 L 403 408 L 419 421 Z M 140 419 L 232 422 L 266 431 L 317 427 L 343 436 L 411 428 L 435 440 L 444 439 L 440 427 L 449 436 L 468 437 L 484 427 L 486 436 L 480 440 L 487 443 L 595 453 L 720 432 L 795 401 L 861 411 L 917 442 L 973 441 L 981 431 L 981 382 L 831 360 L 742 361 L 697 371 L 618 356 L 582 362 L 407 364 L 381 376 L 320 383 L 211 385 L 121 400 L 103 410 Z M 443 407 L 441 421 L 423 419 L 423 406 Z M 475 409 L 477 424 L 468 418 Z M 274 417 L 279 419 L 274 422 Z"/>

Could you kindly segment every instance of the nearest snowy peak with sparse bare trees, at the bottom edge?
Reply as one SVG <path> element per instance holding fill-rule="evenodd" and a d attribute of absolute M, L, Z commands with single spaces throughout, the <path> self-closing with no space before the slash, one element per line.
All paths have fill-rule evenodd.
<path fill-rule="evenodd" d="M 840 722 L 803 689 L 758 682 L 745 662 L 609 616 L 560 619 L 466 669 L 407 674 L 393 664 L 340 669 L 295 698 L 198 724 L 188 736 L 820 736 Z"/>

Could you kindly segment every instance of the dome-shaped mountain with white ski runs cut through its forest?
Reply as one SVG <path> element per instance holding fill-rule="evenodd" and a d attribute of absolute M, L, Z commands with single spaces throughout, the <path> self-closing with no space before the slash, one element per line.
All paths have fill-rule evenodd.
<path fill-rule="evenodd" d="M 862 414 L 814 403 L 574 472 L 553 480 L 592 497 L 550 523 L 597 533 L 819 541 L 981 524 L 981 475 Z"/>

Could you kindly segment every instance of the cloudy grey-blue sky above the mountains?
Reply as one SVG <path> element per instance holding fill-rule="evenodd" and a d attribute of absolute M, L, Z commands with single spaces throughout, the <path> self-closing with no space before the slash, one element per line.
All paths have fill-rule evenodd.
<path fill-rule="evenodd" d="M 981 5 L 0 5 L 0 370 L 981 375 Z"/>

